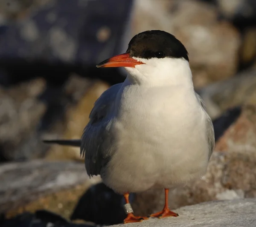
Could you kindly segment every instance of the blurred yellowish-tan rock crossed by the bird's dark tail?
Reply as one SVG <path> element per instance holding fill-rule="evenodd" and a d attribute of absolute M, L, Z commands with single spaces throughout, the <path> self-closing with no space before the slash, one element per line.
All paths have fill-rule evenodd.
<path fill-rule="evenodd" d="M 82 79 L 76 78 L 76 86 L 81 84 Z M 83 79 L 84 80 L 84 79 Z M 68 88 L 70 94 L 76 96 L 76 104 L 69 106 L 65 111 L 65 123 L 64 129 L 62 132 L 58 130 L 58 133 L 45 133 L 44 139 L 56 139 L 65 138 L 65 139 L 77 139 L 81 138 L 84 127 L 89 121 L 90 111 L 93 108 L 93 105 L 97 98 L 108 89 L 108 85 L 104 82 L 97 81 L 96 83 L 89 83 L 90 87 L 88 87 L 88 83 L 85 89 L 79 89 L 75 85 L 73 89 Z M 72 86 L 71 81 L 67 82 L 69 87 Z M 74 93 L 77 92 L 80 94 Z M 86 92 L 85 92 L 86 91 Z M 59 145 L 50 145 L 47 146 L 50 149 L 47 151 L 46 158 L 47 160 L 80 160 L 84 162 L 84 158 L 80 156 L 80 148 L 79 147 L 68 147 L 68 146 L 59 146 Z"/>

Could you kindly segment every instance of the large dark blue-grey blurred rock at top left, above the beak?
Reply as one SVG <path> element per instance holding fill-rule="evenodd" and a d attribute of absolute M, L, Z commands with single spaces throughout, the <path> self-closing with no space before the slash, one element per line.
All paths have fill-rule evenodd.
<path fill-rule="evenodd" d="M 0 60 L 96 65 L 119 53 L 132 0 L 51 0 L 1 29 Z"/>

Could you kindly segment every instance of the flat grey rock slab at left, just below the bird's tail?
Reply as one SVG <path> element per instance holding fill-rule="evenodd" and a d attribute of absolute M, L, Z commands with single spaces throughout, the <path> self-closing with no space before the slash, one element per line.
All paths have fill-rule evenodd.
<path fill-rule="evenodd" d="M 88 180 L 84 164 L 34 160 L 0 165 L 0 213 Z"/>

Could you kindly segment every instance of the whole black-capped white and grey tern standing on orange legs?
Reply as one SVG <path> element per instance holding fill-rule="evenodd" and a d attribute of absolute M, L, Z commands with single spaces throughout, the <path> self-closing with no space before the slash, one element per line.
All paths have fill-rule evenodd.
<path fill-rule="evenodd" d="M 188 56 L 173 34 L 136 34 L 125 53 L 97 65 L 124 67 L 128 74 L 96 100 L 81 139 L 45 141 L 80 147 L 87 174 L 100 175 L 125 197 L 124 223 L 148 219 L 134 215 L 129 194 L 154 187 L 165 191 L 165 205 L 149 217 L 177 217 L 169 209 L 169 190 L 207 171 L 215 135 Z"/>

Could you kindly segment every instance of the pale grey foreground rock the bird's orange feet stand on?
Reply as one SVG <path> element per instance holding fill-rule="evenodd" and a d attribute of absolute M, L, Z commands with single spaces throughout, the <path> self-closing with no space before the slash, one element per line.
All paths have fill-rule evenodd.
<path fill-rule="evenodd" d="M 177 218 L 150 218 L 141 223 L 125 224 L 125 227 L 255 227 L 256 199 L 211 201 L 181 207 Z M 112 227 L 123 227 L 123 224 Z"/>

